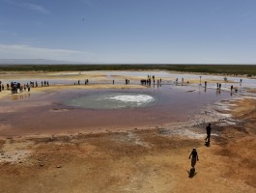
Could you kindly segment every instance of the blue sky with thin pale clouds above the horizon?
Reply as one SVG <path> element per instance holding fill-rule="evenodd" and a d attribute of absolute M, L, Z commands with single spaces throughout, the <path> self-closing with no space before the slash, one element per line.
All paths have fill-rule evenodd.
<path fill-rule="evenodd" d="M 256 0 L 0 0 L 0 59 L 256 64 Z"/>

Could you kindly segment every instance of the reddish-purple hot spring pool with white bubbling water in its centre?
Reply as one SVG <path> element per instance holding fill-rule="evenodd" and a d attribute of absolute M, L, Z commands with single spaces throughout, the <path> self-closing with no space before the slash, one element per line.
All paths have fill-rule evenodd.
<path fill-rule="evenodd" d="M 13 126 L 0 134 L 154 127 L 186 121 L 204 106 L 229 97 L 215 89 L 174 85 L 33 93 L 0 101 L 2 122 Z"/>

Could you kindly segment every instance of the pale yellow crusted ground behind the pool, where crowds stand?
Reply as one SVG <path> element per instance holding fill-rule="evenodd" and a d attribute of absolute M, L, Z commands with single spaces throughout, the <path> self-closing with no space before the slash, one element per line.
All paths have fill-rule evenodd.
<path fill-rule="evenodd" d="M 154 70 L 157 71 L 157 70 Z M 153 73 L 154 73 L 153 71 Z M 162 70 L 161 70 L 162 71 Z M 182 73 L 182 72 L 177 72 L 177 71 L 168 71 L 170 74 L 198 74 L 202 75 L 202 73 Z M 64 73 L 68 73 L 68 75 L 65 75 Z M 71 73 L 69 75 L 69 73 Z M 74 73 L 74 74 L 73 74 Z M 209 75 L 209 74 L 203 74 L 203 75 Z M 222 76 L 221 74 L 216 74 L 219 76 Z M 229 76 L 232 77 L 232 76 Z M 46 92 L 46 91 L 51 91 L 51 90 L 61 90 L 61 89 L 144 89 L 144 86 L 141 86 L 139 84 L 140 79 L 146 78 L 146 77 L 130 77 L 127 75 L 117 75 L 114 76 L 113 79 L 117 79 L 119 83 L 117 84 L 112 84 L 112 82 L 109 80 L 109 78 L 102 73 L 102 71 L 89 71 L 88 74 L 82 74 L 79 73 L 78 71 L 59 71 L 59 72 L 44 72 L 44 71 L 3 71 L 1 74 L 2 78 L 2 83 L 6 84 L 11 81 L 26 81 L 28 82 L 29 80 L 39 80 L 39 85 L 41 84 L 41 80 L 54 80 L 54 79 L 62 79 L 62 80 L 69 80 L 71 81 L 71 84 L 54 84 L 50 85 L 50 87 L 37 87 L 37 88 L 31 88 L 31 92 Z M 120 83 L 120 81 L 124 82 L 125 79 L 131 79 L 133 81 L 136 81 L 136 84 L 130 84 L 130 85 L 125 85 L 124 83 Z M 77 80 L 84 80 L 84 79 L 95 79 L 94 84 L 89 84 L 89 85 L 84 85 L 85 87 L 82 87 L 83 85 L 73 85 L 73 82 L 76 82 Z M 4 80 L 4 81 L 3 81 Z M 175 78 L 164 78 L 164 81 L 169 82 L 169 81 L 175 81 Z M 190 84 L 199 84 L 200 80 L 199 79 L 186 79 L 185 82 L 188 81 Z M 219 80 L 207 80 L 208 83 L 234 83 L 233 81 L 219 81 Z M 102 82 L 106 82 L 105 84 L 102 84 Z M 205 82 L 205 79 L 202 78 L 201 82 Z M 0 93 L 0 99 L 4 98 L 6 96 L 11 96 L 11 91 L 4 90 Z M 22 95 L 22 94 L 18 94 Z"/>

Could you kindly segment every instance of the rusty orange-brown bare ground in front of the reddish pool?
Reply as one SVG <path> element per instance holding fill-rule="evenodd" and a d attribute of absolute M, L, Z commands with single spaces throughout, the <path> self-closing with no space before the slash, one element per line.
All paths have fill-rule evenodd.
<path fill-rule="evenodd" d="M 174 133 L 178 125 L 1 137 L 0 192 L 256 192 L 255 107 L 255 98 L 232 101 L 234 121 L 213 123 L 211 146 L 205 124 L 193 125 L 198 137 Z"/>

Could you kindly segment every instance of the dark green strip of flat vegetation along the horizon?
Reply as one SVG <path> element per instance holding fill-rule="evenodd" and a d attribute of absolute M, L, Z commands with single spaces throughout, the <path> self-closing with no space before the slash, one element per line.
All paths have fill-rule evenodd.
<path fill-rule="evenodd" d="M 1 65 L 0 71 L 148 70 L 256 75 L 256 65 Z"/>

